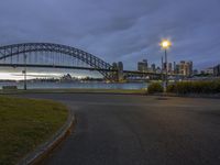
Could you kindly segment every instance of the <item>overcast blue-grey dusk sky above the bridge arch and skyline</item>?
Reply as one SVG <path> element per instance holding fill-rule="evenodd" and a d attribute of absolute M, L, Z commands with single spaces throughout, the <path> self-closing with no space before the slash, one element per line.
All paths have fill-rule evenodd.
<path fill-rule="evenodd" d="M 136 69 L 143 58 L 220 63 L 220 0 L 0 0 L 0 45 L 50 42 Z"/>

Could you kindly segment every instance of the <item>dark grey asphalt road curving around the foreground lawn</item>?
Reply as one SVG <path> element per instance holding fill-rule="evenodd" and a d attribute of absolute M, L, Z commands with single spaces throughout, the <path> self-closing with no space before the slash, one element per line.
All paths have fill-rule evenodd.
<path fill-rule="evenodd" d="M 38 94 L 77 117 L 46 165 L 220 165 L 220 100 Z"/>

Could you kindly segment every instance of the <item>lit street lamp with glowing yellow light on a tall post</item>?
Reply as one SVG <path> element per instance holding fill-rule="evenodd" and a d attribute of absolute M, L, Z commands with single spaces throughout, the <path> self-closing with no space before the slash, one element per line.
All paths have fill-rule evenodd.
<path fill-rule="evenodd" d="M 166 64 L 166 75 L 165 75 L 165 91 L 168 85 L 168 64 L 167 64 L 167 50 L 172 46 L 170 41 L 163 40 L 161 43 L 162 48 L 165 51 L 165 64 Z"/>

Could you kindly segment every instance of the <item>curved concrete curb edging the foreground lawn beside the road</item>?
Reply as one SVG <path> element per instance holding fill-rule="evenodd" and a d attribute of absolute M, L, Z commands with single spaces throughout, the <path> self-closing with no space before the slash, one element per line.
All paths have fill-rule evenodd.
<path fill-rule="evenodd" d="M 18 165 L 37 165 L 41 164 L 55 147 L 61 144 L 70 133 L 76 122 L 75 116 L 69 111 L 68 119 L 66 123 L 56 132 L 56 134 L 45 142 L 44 144 L 40 145 L 34 152 L 30 153 L 25 156 Z"/>

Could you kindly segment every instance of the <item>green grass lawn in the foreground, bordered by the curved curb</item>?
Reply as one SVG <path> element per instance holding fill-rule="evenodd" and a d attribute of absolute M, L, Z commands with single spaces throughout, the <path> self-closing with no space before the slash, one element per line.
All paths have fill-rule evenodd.
<path fill-rule="evenodd" d="M 52 138 L 67 116 L 58 102 L 0 97 L 0 165 L 16 164 Z"/>

